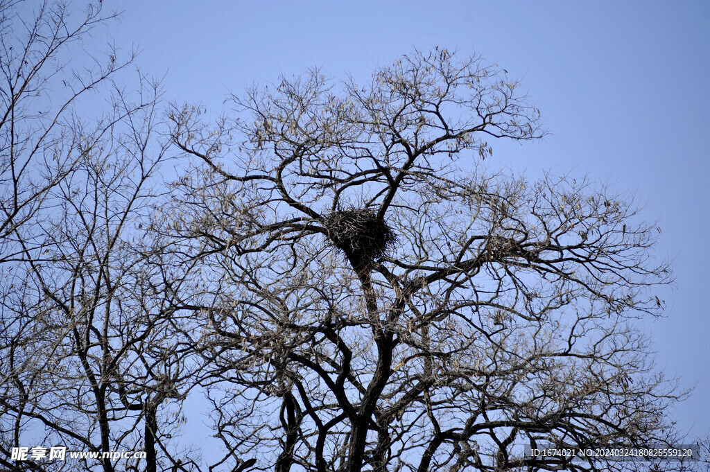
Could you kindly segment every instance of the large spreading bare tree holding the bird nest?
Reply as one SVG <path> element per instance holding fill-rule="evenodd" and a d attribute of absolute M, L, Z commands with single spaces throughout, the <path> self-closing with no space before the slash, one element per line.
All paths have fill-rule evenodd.
<path fill-rule="evenodd" d="M 196 160 L 162 227 L 198 264 L 178 298 L 200 326 L 221 462 L 598 471 L 629 463 L 522 444 L 677 440 L 679 394 L 635 324 L 672 280 L 652 257 L 660 230 L 590 180 L 486 168 L 487 141 L 545 134 L 519 91 L 436 49 L 364 86 L 311 70 L 255 87 L 216 124 L 173 109 Z"/>

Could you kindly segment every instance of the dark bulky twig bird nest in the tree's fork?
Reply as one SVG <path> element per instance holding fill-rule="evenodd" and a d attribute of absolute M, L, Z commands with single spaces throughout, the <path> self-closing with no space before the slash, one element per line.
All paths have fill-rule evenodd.
<path fill-rule="evenodd" d="M 351 260 L 356 270 L 369 270 L 397 236 L 371 209 L 332 212 L 324 221 L 328 238 Z"/>

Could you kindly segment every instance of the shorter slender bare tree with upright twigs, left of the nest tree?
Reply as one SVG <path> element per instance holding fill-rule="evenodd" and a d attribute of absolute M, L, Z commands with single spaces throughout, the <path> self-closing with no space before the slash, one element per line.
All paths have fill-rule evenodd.
<path fill-rule="evenodd" d="M 137 103 L 119 97 L 107 133 L 103 122 L 89 134 L 75 129 L 91 148 L 46 195 L 51 211 L 40 210 L 33 239 L 18 238 L 22 264 L 3 300 L 6 451 L 43 428 L 40 444 L 70 451 L 146 452 L 145 461 L 116 468 L 116 458 L 104 457 L 82 470 L 156 471 L 160 457 L 173 463 L 162 441 L 182 421 L 190 373 L 170 329 L 179 317 L 170 274 L 141 231 L 166 150 L 151 137 L 160 116 L 155 92 L 146 84 Z"/>

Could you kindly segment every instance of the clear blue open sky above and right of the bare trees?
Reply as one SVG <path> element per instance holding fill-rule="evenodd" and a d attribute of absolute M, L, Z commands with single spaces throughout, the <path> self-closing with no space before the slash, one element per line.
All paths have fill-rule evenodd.
<path fill-rule="evenodd" d="M 710 2 L 443 3 L 104 0 L 124 9 L 116 45 L 142 50 L 143 72 L 167 72 L 166 97 L 212 112 L 254 82 L 313 65 L 366 79 L 415 47 L 481 54 L 519 77 L 551 134 L 498 143 L 493 159 L 611 182 L 660 221 L 658 256 L 677 283 L 659 291 L 667 318 L 646 328 L 657 368 L 696 386 L 677 406 L 681 430 L 710 434 Z"/>

